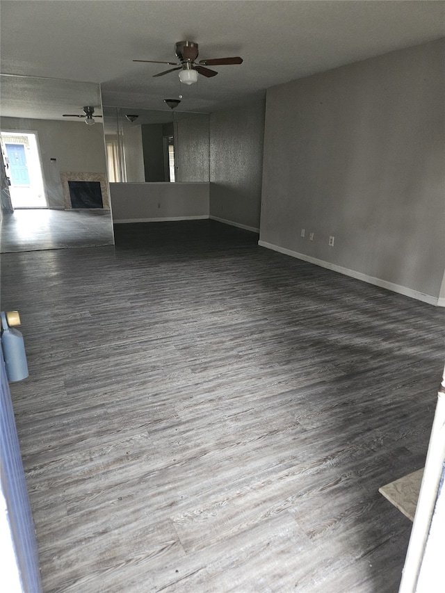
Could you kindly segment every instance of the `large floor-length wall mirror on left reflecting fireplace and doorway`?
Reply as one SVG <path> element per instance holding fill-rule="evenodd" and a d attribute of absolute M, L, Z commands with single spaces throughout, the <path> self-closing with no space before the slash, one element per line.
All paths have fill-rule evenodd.
<path fill-rule="evenodd" d="M 99 85 L 0 83 L 1 252 L 113 245 Z"/>

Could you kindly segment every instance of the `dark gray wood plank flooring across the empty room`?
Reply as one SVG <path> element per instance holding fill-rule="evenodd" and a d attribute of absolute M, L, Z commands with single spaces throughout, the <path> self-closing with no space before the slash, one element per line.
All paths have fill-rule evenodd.
<path fill-rule="evenodd" d="M 395 593 L 444 309 L 214 221 L 5 254 L 44 591 Z"/>

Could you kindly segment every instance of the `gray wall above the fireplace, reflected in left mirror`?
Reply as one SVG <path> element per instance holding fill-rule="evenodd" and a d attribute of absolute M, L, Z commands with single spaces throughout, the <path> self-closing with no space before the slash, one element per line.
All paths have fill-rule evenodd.
<path fill-rule="evenodd" d="M 49 208 L 63 209 L 60 171 L 105 173 L 106 160 L 102 124 L 29 120 L 2 117 L 2 130 L 36 131 L 40 146 L 43 176 Z M 56 159 L 51 162 L 50 159 Z"/>

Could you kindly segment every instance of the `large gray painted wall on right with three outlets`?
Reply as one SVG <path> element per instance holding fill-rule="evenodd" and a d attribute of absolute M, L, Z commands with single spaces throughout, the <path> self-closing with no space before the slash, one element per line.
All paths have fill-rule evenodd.
<path fill-rule="evenodd" d="M 268 90 L 260 241 L 439 296 L 444 49 L 439 40 Z"/>

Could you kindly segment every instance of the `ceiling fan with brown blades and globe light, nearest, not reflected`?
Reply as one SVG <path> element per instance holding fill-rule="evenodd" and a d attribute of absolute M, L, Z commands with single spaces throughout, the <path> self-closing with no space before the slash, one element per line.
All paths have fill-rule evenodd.
<path fill-rule="evenodd" d="M 175 51 L 177 58 L 180 63 L 177 62 L 159 62 L 158 60 L 133 60 L 133 62 L 149 62 L 152 64 L 169 64 L 170 66 L 175 66 L 175 68 L 170 68 L 170 70 L 164 70 L 163 72 L 159 72 L 158 74 L 154 74 L 154 78 L 156 76 L 163 76 L 164 74 L 168 74 L 169 72 L 175 72 L 175 70 L 179 70 L 179 80 L 181 83 L 184 84 L 193 84 L 197 81 L 197 75 L 202 74 L 202 76 L 206 76 L 210 78 L 211 76 L 216 76 L 218 72 L 215 70 L 210 70 L 206 66 L 220 66 L 220 65 L 232 65 L 232 64 L 242 64 L 243 59 L 239 57 L 234 58 L 211 58 L 208 60 L 200 60 L 199 62 L 195 63 L 195 60 L 198 56 L 198 46 L 197 43 L 194 41 L 178 41 L 175 45 Z"/>

